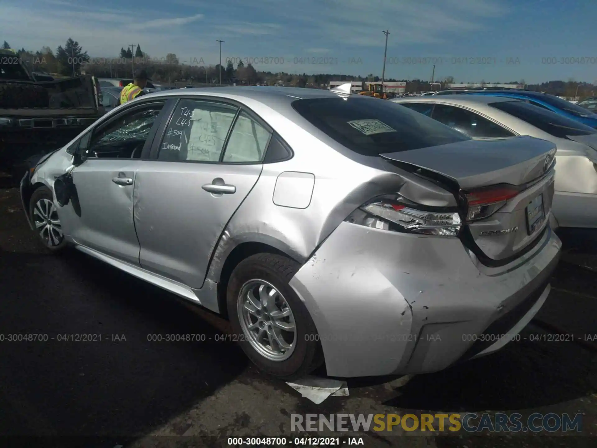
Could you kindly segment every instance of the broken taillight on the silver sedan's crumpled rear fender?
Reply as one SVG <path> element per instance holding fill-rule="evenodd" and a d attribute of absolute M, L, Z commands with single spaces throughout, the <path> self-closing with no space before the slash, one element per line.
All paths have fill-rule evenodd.
<path fill-rule="evenodd" d="M 349 222 L 368 227 L 423 235 L 456 237 L 461 227 L 457 210 L 426 207 L 399 196 L 384 196 L 362 205 Z"/>

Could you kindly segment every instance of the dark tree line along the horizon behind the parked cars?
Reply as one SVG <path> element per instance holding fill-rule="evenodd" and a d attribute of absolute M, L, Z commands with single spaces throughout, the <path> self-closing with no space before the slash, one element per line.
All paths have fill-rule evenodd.
<path fill-rule="evenodd" d="M 7 41 L 4 41 L 3 48 L 11 48 Z M 201 60 L 193 60 L 190 64 L 181 63 L 174 53 L 168 53 L 165 58 L 152 58 L 141 50 L 139 44 L 121 47 L 115 58 L 90 58 L 87 51 L 83 51 L 79 42 L 72 38 L 67 39 L 64 46 L 59 45 L 56 51 L 50 47 L 42 47 L 38 51 L 28 51 L 24 48 L 17 50 L 19 56 L 33 71 L 73 76 L 85 72 L 98 78 L 131 78 L 133 68 L 143 68 L 155 82 L 174 84 L 175 82 L 187 82 L 189 84 L 246 84 L 246 85 L 285 85 L 296 87 L 327 87 L 330 81 L 381 81 L 381 78 L 373 73 L 367 76 L 345 75 L 342 73 L 319 73 L 307 75 L 307 73 L 287 73 L 256 70 L 251 64 L 245 66 L 242 60 L 236 67 L 232 62 L 226 66 L 205 65 Z M 133 48 L 135 48 L 133 53 Z M 407 82 L 406 92 L 416 93 L 431 90 L 429 81 L 423 79 L 385 79 L 387 82 Z M 454 76 L 446 76 L 438 81 L 440 88 L 445 84 L 453 84 Z M 461 82 L 464 84 L 464 82 Z M 485 82 L 481 84 L 525 84 L 524 79 L 510 82 Z M 568 81 L 548 81 L 541 84 L 527 85 L 529 90 L 544 91 L 559 96 L 590 96 L 595 93 L 595 86 L 587 82 L 576 82 L 574 79 Z"/>

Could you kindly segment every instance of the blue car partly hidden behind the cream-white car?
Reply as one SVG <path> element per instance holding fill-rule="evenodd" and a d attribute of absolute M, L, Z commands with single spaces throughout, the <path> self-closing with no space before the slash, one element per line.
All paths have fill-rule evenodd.
<path fill-rule="evenodd" d="M 523 100 L 528 103 L 531 103 L 532 105 L 538 106 L 543 109 L 549 109 L 550 111 L 558 113 L 559 115 L 567 116 L 568 118 L 575 119 L 576 121 L 580 121 L 583 124 L 589 125 L 590 127 L 597 129 L 597 114 L 587 109 L 581 108 L 580 106 L 577 106 L 576 104 L 573 104 L 569 101 L 562 100 L 561 98 L 549 95 L 547 93 L 533 92 L 527 90 L 487 90 L 470 92 L 466 93 L 466 95 L 491 95 Z"/>

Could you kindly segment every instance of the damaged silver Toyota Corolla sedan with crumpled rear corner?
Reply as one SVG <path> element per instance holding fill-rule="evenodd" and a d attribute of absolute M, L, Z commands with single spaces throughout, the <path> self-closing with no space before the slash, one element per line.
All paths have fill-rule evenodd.
<path fill-rule="evenodd" d="M 332 91 L 149 94 L 21 182 L 32 230 L 229 318 L 296 378 L 435 372 L 543 305 L 555 145 Z"/>

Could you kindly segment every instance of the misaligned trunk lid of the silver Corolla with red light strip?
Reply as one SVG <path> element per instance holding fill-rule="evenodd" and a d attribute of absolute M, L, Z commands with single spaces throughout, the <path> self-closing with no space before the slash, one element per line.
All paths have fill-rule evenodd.
<path fill-rule="evenodd" d="M 530 250 L 549 222 L 555 151 L 554 143 L 525 136 L 380 156 L 439 174 L 447 185 L 456 183 L 463 207 L 461 240 L 481 262 L 504 265 Z"/>

